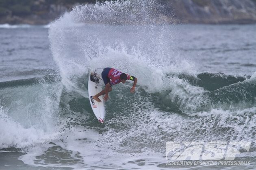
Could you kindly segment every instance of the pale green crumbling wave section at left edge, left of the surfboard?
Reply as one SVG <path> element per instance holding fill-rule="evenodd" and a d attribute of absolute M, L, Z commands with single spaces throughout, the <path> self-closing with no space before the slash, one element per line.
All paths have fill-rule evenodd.
<path fill-rule="evenodd" d="M 24 148 L 56 138 L 59 84 L 50 76 L 0 82 L 1 148 Z"/>

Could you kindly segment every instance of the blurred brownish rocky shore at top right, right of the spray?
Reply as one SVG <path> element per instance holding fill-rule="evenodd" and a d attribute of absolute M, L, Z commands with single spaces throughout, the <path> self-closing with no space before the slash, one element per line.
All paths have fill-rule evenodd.
<path fill-rule="evenodd" d="M 254 0 L 163 0 L 180 23 L 256 23 Z"/>

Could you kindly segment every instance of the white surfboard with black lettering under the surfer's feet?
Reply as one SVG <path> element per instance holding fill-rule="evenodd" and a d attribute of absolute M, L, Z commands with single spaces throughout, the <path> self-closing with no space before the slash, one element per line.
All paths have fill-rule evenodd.
<path fill-rule="evenodd" d="M 89 80 L 88 80 L 88 93 L 89 93 L 89 100 L 91 104 L 91 108 L 93 110 L 94 115 L 98 119 L 100 123 L 104 123 L 104 116 L 105 116 L 105 107 L 103 96 L 100 96 L 101 102 L 97 102 L 93 99 L 95 94 L 100 93 L 102 91 L 102 86 L 100 85 L 99 75 L 91 72 Z"/>

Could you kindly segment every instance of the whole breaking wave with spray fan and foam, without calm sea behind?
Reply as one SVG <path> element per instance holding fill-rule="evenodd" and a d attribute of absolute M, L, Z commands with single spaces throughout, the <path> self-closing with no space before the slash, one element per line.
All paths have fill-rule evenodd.
<path fill-rule="evenodd" d="M 76 6 L 51 23 L 59 71 L 0 83 L 0 148 L 21 149 L 19 160 L 37 167 L 160 169 L 167 141 L 254 142 L 255 73 L 201 72 L 182 55 L 179 28 L 166 24 L 161 9 L 156 0 L 119 0 Z M 104 67 L 139 81 L 135 94 L 131 83 L 113 87 L 101 124 L 87 81 Z M 254 152 L 252 143 L 239 156 L 254 159 Z"/>

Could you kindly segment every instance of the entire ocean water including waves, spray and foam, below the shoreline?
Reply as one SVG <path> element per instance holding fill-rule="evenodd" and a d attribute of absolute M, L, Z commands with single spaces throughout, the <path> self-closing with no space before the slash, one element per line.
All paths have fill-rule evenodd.
<path fill-rule="evenodd" d="M 0 25 L 1 170 L 256 168 L 256 25 L 167 24 L 128 2 Z M 113 86 L 101 124 L 87 81 L 104 67 L 138 83 Z M 169 141 L 251 142 L 235 159 L 250 164 L 171 166 Z"/>

